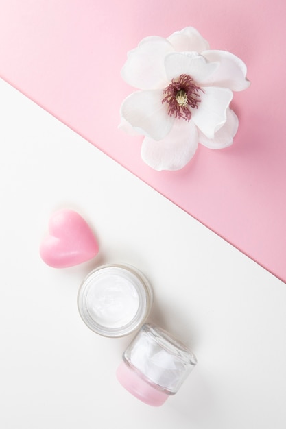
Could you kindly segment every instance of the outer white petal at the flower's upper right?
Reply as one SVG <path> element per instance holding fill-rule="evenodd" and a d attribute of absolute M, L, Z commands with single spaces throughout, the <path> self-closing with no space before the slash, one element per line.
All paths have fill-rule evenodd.
<path fill-rule="evenodd" d="M 213 75 L 208 77 L 204 84 L 223 86 L 233 91 L 242 91 L 250 86 L 246 79 L 246 64 L 227 51 L 204 51 L 202 55 L 211 62 L 218 62 L 219 66 Z"/>

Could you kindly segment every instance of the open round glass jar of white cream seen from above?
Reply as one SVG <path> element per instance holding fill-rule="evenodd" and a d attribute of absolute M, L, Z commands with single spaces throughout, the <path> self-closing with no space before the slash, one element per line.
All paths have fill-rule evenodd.
<path fill-rule="evenodd" d="M 153 293 L 130 265 L 103 265 L 88 274 L 78 292 L 78 310 L 88 328 L 110 337 L 128 335 L 149 315 Z"/>

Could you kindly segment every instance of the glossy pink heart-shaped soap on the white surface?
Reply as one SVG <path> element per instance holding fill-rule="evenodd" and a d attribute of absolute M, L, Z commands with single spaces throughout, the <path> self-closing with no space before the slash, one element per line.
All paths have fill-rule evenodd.
<path fill-rule="evenodd" d="M 53 213 L 49 235 L 40 244 L 40 256 L 47 265 L 73 267 L 94 258 L 97 253 L 97 240 L 82 216 L 69 209 Z"/>

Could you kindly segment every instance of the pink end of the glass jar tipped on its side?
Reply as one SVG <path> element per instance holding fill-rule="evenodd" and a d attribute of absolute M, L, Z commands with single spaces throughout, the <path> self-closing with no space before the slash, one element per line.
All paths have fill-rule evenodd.
<path fill-rule="evenodd" d="M 135 371 L 132 371 L 124 362 L 117 369 L 117 379 L 128 392 L 136 398 L 152 406 L 163 405 L 169 397 L 167 393 L 158 391 L 145 382 Z"/>

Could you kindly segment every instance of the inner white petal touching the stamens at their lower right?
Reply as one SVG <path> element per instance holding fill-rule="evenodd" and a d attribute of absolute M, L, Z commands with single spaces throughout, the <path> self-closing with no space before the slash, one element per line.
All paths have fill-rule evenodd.
<path fill-rule="evenodd" d="M 228 88 L 207 86 L 200 92 L 200 104 L 191 109 L 191 119 L 208 138 L 214 138 L 215 132 L 226 122 L 226 110 L 233 98 Z"/>

